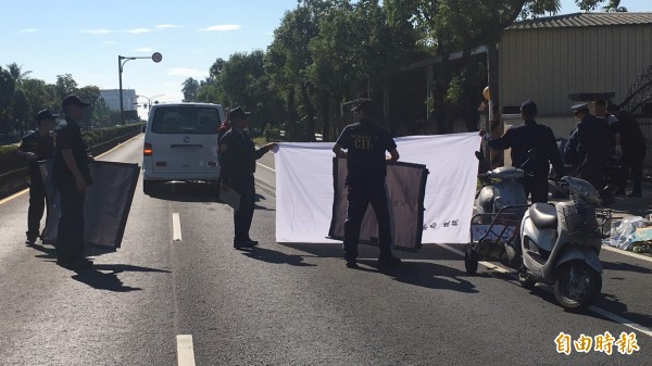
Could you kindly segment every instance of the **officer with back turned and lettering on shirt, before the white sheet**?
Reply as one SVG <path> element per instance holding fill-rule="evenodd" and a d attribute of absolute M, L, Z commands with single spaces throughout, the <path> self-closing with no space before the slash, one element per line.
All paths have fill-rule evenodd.
<path fill-rule="evenodd" d="M 344 222 L 344 260 L 347 267 L 359 268 L 358 241 L 360 227 L 369 203 L 378 219 L 378 241 L 380 265 L 398 265 L 401 260 L 391 253 L 391 227 L 385 176 L 387 163 L 399 160 L 397 144 L 385 129 L 372 121 L 374 103 L 369 99 L 359 99 L 352 109 L 358 114 L 358 123 L 348 125 L 337 139 L 333 151 L 337 157 L 347 160 L 347 190 L 349 206 Z M 386 156 L 389 151 L 390 156 Z"/>

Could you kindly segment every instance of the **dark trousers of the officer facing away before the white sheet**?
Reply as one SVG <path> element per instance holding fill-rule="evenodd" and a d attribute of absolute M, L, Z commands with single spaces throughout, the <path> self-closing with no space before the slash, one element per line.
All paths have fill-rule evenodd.
<path fill-rule="evenodd" d="M 369 203 L 378 219 L 380 256 L 390 256 L 391 229 L 385 181 L 350 182 L 347 185 L 347 189 L 349 192 L 349 207 L 347 210 L 347 220 L 344 222 L 344 258 L 354 261 L 358 257 L 360 228 Z"/>

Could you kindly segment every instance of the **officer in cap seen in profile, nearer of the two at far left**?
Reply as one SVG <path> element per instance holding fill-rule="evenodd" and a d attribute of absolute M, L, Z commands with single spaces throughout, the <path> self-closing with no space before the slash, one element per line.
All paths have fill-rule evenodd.
<path fill-rule="evenodd" d="M 57 263 L 66 268 L 84 268 L 92 262 L 84 255 L 84 198 L 92 184 L 91 160 L 82 138 L 84 108 L 90 104 L 77 96 L 63 99 L 65 121 L 55 128 L 52 185 L 61 195 L 61 217 L 57 231 Z"/>

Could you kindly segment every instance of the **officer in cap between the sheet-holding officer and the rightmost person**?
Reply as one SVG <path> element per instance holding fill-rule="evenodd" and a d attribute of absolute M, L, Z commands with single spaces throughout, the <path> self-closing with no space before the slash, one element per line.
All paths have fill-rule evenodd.
<path fill-rule="evenodd" d="M 610 152 L 614 148 L 614 137 L 604 118 L 598 118 L 589 112 L 587 103 L 570 108 L 579 121 L 577 128 L 570 132 L 568 143 L 564 147 L 564 156 L 577 165 L 579 177 L 590 182 L 597 190 L 604 188 L 604 177 Z M 609 192 L 603 192 L 609 194 Z M 612 200 L 603 195 L 603 199 Z"/>

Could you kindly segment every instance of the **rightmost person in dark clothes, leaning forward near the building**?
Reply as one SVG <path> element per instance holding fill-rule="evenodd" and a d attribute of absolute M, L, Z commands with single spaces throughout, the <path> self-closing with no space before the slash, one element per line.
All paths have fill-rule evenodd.
<path fill-rule="evenodd" d="M 627 174 L 631 169 L 634 178 L 634 190 L 628 194 L 629 197 L 642 197 L 641 181 L 643 179 L 643 162 L 645 160 L 645 138 L 639 127 L 636 118 L 627 113 L 620 111 L 620 106 L 617 104 L 607 104 L 607 111 L 618 118 L 618 130 L 620 134 L 620 147 L 623 151 L 623 157 L 620 164 L 623 165 L 624 185 L 627 185 Z"/>

